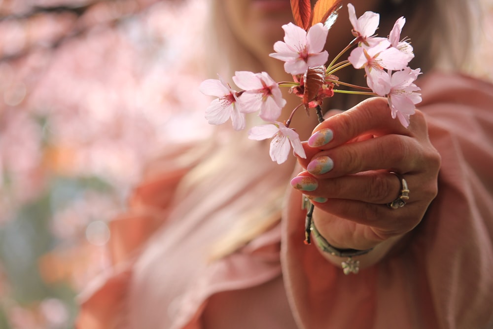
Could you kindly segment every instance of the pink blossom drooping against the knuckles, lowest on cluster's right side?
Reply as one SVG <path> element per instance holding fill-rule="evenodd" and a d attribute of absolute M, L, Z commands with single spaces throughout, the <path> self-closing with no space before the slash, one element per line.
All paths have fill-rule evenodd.
<path fill-rule="evenodd" d="M 387 96 L 392 118 L 397 117 L 404 127 L 409 126 L 409 116 L 414 114 L 415 105 L 421 102 L 421 90 L 414 81 L 420 75 L 420 69 L 405 68 L 393 74 L 382 75 L 379 84 L 385 89 L 380 96 Z"/>

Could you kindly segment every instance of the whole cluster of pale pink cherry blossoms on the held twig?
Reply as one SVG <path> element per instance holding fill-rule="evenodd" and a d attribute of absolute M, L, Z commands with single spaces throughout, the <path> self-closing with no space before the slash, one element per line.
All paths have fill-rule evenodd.
<path fill-rule="evenodd" d="M 334 93 L 354 93 L 386 97 L 392 118 L 398 118 L 407 127 L 415 105 L 421 102 L 420 90 L 414 81 L 420 69 L 411 69 L 408 64 L 414 58 L 413 47 L 406 39 L 401 39 L 401 31 L 406 22 L 400 17 L 395 22 L 388 37 L 378 37 L 375 32 L 380 23 L 380 15 L 367 11 L 356 17 L 354 6 L 348 4 L 349 19 L 352 24 L 352 42 L 326 65 L 329 54 L 325 48 L 328 29 L 323 22 L 303 29 L 293 23 L 282 26 L 284 41 L 274 44 L 275 53 L 271 57 L 284 62 L 284 70 L 293 76 L 293 82 L 278 83 L 268 73 L 236 72 L 233 81 L 240 90 L 235 90 L 221 77 L 202 82 L 200 90 L 214 99 L 206 110 L 206 118 L 211 124 L 222 124 L 231 118 L 235 130 L 246 126 L 245 115 L 258 112 L 265 125 L 249 130 L 248 138 L 264 140 L 272 138 L 270 155 L 273 161 L 287 160 L 290 145 L 294 153 L 305 158 L 299 135 L 289 124 L 292 114 L 301 105 L 305 109 L 317 108 L 324 98 Z M 347 60 L 337 62 L 342 55 L 352 49 Z M 352 66 L 363 69 L 368 87 L 356 86 L 340 81 L 334 75 L 338 70 Z M 282 98 L 280 86 L 290 87 L 290 93 L 302 98 L 288 120 L 279 121 L 286 101 Z M 349 86 L 362 91 L 334 89 Z"/>

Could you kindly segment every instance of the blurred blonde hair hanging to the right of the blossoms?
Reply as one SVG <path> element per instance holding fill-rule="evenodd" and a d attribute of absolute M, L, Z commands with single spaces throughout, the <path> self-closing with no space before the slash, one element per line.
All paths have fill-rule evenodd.
<path fill-rule="evenodd" d="M 400 16 L 406 17 L 404 34 L 409 36 L 415 52 L 414 67 L 426 73 L 441 71 L 466 71 L 471 49 L 480 36 L 481 2 L 478 0 L 421 0 L 383 1 L 381 24 L 389 31 Z"/>

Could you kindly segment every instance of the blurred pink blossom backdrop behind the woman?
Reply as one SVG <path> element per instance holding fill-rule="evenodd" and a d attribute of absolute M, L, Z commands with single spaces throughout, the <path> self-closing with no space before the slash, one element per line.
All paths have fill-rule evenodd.
<path fill-rule="evenodd" d="M 70 328 L 146 160 L 211 133 L 206 2 L 0 0 L 0 328 Z M 493 80 L 491 2 L 470 70 Z"/>

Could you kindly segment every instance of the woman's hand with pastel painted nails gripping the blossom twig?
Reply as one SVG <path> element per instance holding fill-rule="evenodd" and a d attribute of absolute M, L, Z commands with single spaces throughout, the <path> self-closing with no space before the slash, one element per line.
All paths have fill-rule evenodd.
<path fill-rule="evenodd" d="M 371 98 L 320 123 L 308 143 L 305 171 L 291 184 L 309 196 L 320 234 L 334 247 L 369 249 L 395 241 L 420 223 L 437 194 L 440 155 L 424 115 L 408 128 L 392 119 L 385 98 Z M 391 209 L 406 180 L 409 199 Z"/>

